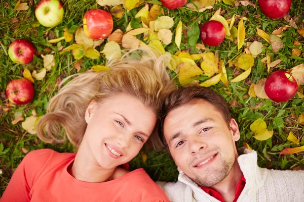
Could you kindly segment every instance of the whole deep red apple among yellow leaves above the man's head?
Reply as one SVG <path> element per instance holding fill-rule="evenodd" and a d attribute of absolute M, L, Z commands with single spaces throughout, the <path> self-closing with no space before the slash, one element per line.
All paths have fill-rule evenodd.
<path fill-rule="evenodd" d="M 225 39 L 226 30 L 218 21 L 210 20 L 201 27 L 201 39 L 203 43 L 217 46 Z"/>

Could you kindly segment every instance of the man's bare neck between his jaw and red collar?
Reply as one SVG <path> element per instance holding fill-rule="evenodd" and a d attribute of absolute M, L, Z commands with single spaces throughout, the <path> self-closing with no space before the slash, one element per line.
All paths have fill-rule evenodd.
<path fill-rule="evenodd" d="M 242 176 L 243 173 L 236 158 L 230 173 L 222 181 L 211 188 L 216 190 L 222 196 L 224 201 L 232 202 L 235 198 L 237 185 Z"/>

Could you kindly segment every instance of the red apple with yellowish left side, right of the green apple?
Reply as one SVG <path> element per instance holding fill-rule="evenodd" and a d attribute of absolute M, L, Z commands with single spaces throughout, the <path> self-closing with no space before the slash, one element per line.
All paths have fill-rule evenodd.
<path fill-rule="evenodd" d="M 111 14 L 100 9 L 92 9 L 84 16 L 84 32 L 91 39 L 108 37 L 113 30 Z"/>

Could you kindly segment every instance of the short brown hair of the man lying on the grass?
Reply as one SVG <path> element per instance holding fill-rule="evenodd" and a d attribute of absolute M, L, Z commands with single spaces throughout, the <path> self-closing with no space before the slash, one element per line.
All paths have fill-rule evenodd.
<path fill-rule="evenodd" d="M 167 114 L 173 109 L 182 105 L 188 104 L 193 99 L 203 99 L 213 105 L 219 113 L 223 116 L 228 128 L 230 128 L 231 114 L 225 99 L 206 87 L 185 87 L 171 91 L 165 98 L 161 108 L 161 118 L 159 120 L 159 136 L 166 149 L 169 151 L 168 144 L 164 135 L 164 121 Z"/>

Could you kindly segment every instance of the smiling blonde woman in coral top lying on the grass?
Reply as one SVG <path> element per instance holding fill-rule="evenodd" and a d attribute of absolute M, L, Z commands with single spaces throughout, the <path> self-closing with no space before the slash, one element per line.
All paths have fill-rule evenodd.
<path fill-rule="evenodd" d="M 148 49 L 135 52 L 109 62 L 109 71 L 77 74 L 50 100 L 36 126 L 38 137 L 65 141 L 60 136 L 64 128 L 77 153 L 31 151 L 1 202 L 169 201 L 143 169 L 119 167 L 145 142 L 159 143 L 154 134 L 158 110 L 162 94 L 173 87 L 164 62 L 168 56 L 157 58 Z M 145 53 L 140 61 L 132 57 L 139 52 Z"/>

